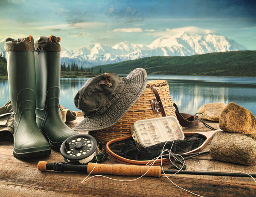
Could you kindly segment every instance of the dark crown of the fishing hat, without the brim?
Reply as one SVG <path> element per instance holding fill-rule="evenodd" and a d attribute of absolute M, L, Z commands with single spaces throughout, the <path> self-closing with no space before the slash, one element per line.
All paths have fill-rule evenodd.
<path fill-rule="evenodd" d="M 75 96 L 76 108 L 83 111 L 84 117 L 102 114 L 106 105 L 113 104 L 111 100 L 118 93 L 123 80 L 115 73 L 105 73 L 90 78 Z"/>

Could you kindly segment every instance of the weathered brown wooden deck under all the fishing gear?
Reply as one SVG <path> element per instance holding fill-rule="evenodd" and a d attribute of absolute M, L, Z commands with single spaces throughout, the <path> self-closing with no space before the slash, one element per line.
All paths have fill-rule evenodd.
<path fill-rule="evenodd" d="M 72 128 L 81 118 L 69 124 Z M 218 128 L 217 123 L 210 123 Z M 202 124 L 194 128 L 186 128 L 184 132 L 209 131 Z M 82 133 L 82 132 L 80 132 Z M 204 150 L 209 150 L 207 145 Z M 132 182 L 119 182 L 104 177 L 93 177 L 80 184 L 87 174 L 79 172 L 54 172 L 38 171 L 38 161 L 62 162 L 63 157 L 59 152 L 52 151 L 49 157 L 36 158 L 31 160 L 18 160 L 12 154 L 12 141 L 0 140 L 0 196 L 90 196 L 90 197 L 113 197 L 113 196 L 136 196 L 136 197 L 163 197 L 163 196 L 194 196 L 183 191 L 178 186 L 192 191 L 195 194 L 209 197 L 255 197 L 256 183 L 252 178 L 241 177 L 215 177 L 199 175 L 174 175 L 170 177 L 171 183 L 166 177 L 142 177 Z M 108 157 L 104 163 L 117 164 L 115 160 Z M 103 163 L 103 164 L 104 164 Z M 256 163 L 251 166 L 244 166 L 233 163 L 215 161 L 208 154 L 195 157 L 186 161 L 187 170 L 201 171 L 201 169 L 217 171 L 243 171 L 256 173 Z M 169 164 L 164 165 L 167 169 Z M 193 169 L 193 166 L 197 169 Z M 121 177 L 107 175 L 108 177 L 121 180 L 131 180 L 137 177 Z"/>

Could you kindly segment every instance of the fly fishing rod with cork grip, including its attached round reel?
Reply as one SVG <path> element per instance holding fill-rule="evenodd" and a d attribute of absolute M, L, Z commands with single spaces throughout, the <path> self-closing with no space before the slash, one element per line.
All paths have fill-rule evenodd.
<path fill-rule="evenodd" d="M 102 149 L 102 148 L 99 148 Z M 231 177 L 256 177 L 256 174 L 242 173 L 223 173 L 223 172 L 206 172 L 206 171 L 177 171 L 177 170 L 161 170 L 160 166 L 136 166 L 124 164 L 99 164 L 92 163 L 94 160 L 105 160 L 105 155 L 97 157 L 100 150 L 97 151 L 96 139 L 88 134 L 76 134 L 61 145 L 61 155 L 65 162 L 49 163 L 40 161 L 38 170 L 40 171 L 78 171 L 91 174 L 113 174 L 122 176 L 145 176 L 160 177 L 161 174 L 195 174 L 210 176 L 231 176 Z M 205 154 L 205 153 L 204 153 Z M 198 156 L 198 154 L 195 154 Z M 192 157 L 192 156 L 190 156 Z"/>

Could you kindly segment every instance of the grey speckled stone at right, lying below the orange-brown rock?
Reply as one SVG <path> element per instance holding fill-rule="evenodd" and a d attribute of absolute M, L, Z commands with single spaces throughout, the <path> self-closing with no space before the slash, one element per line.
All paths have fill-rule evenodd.
<path fill-rule="evenodd" d="M 215 160 L 250 165 L 256 162 L 256 141 L 244 134 L 217 131 L 212 135 L 210 154 Z"/>

